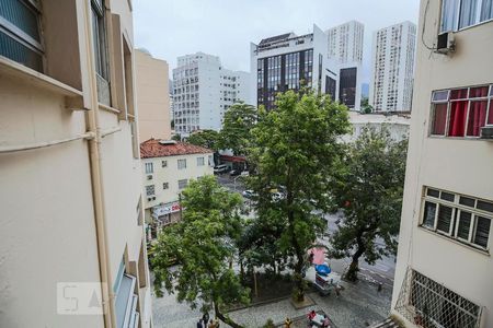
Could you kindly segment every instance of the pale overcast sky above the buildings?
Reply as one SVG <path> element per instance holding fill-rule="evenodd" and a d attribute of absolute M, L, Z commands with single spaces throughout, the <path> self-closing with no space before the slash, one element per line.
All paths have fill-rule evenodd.
<path fill-rule="evenodd" d="M 419 0 L 137 0 L 135 46 L 164 59 L 203 51 L 225 68 L 250 71 L 250 43 L 294 32 L 323 31 L 351 20 L 365 24 L 363 82 L 369 82 L 371 35 L 392 24 L 417 22 Z"/>

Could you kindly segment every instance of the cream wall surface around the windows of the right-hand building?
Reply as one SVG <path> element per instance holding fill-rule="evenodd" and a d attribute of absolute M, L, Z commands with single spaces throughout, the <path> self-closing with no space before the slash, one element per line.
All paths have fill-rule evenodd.
<path fill-rule="evenodd" d="M 436 42 L 439 3 L 421 2 L 417 35 L 422 35 L 426 26 L 423 40 L 428 47 Z M 450 56 L 432 52 L 421 37 L 417 43 L 410 149 L 392 297 L 393 308 L 409 266 L 484 306 L 481 327 L 493 327 L 493 233 L 490 231 L 488 254 L 432 233 L 419 224 L 423 186 L 493 201 L 493 142 L 428 136 L 432 91 L 493 83 L 492 31 L 493 22 L 489 22 L 457 32 L 457 50 Z"/>

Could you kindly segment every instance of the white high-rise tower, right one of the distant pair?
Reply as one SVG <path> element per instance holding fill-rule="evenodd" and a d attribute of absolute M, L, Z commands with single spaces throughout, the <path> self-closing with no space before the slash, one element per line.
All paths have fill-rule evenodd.
<path fill-rule="evenodd" d="M 416 25 L 399 23 L 374 32 L 369 104 L 375 112 L 410 112 Z"/>

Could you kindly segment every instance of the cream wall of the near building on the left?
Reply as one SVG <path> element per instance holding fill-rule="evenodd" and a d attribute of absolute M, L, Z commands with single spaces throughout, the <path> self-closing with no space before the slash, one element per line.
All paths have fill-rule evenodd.
<path fill-rule="evenodd" d="M 64 12 L 69 16 L 61 21 L 78 24 L 68 25 L 67 34 L 54 27 L 60 21 L 53 21 L 60 14 L 55 12 L 56 7 L 50 1 L 44 7 L 53 11 L 43 16 L 43 27 L 47 27 L 43 30 L 54 33 L 47 36 L 50 42 L 46 44 L 49 49 L 44 72 L 34 72 L 0 56 L 0 149 L 77 137 L 90 129 L 88 118 L 96 113 L 94 132 L 101 138 L 101 179 L 91 171 L 85 139 L 0 154 L 0 326 L 104 327 L 102 315 L 57 314 L 57 283 L 102 281 L 92 185 L 98 180 L 102 184 L 106 225 L 103 238 L 113 278 L 108 283 L 113 285 L 124 258 L 126 272 L 138 280 L 134 292 L 139 295 L 140 327 L 149 327 L 149 272 L 144 225 L 139 225 L 137 209 L 141 197 L 140 160 L 138 153 L 137 157 L 133 154 L 133 118 L 125 115 L 125 107 L 135 107 L 134 98 L 127 97 L 126 106 L 118 104 L 122 107 L 117 108 L 93 106 L 91 81 L 95 71 L 88 60 L 93 54 L 88 35 L 91 30 L 85 30 L 91 26 L 85 21 L 90 4 L 69 2 L 64 3 L 70 8 Z M 125 39 L 133 49 L 129 1 L 113 0 L 106 4 L 111 13 L 121 17 L 118 28 L 108 24 L 108 43 L 122 45 Z M 119 33 L 115 36 L 114 31 Z M 58 43 L 72 39 L 70 51 L 57 50 L 61 45 L 55 35 Z M 73 47 L 78 51 L 74 57 Z M 124 75 L 116 65 L 123 58 L 115 55 L 118 49 L 113 50 L 108 56 L 115 56 L 111 61 L 115 63 L 112 77 Z M 128 77 L 134 73 L 131 63 L 130 54 Z M 67 67 L 73 67 L 73 71 Z M 133 87 L 130 79 L 117 92 L 133 94 Z M 110 130 L 113 132 L 102 136 Z"/>

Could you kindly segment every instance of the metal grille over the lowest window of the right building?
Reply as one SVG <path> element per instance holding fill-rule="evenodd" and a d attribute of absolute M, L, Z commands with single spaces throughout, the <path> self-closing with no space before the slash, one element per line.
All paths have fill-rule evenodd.
<path fill-rule="evenodd" d="M 482 307 L 408 268 L 394 309 L 424 328 L 479 328 Z"/>

